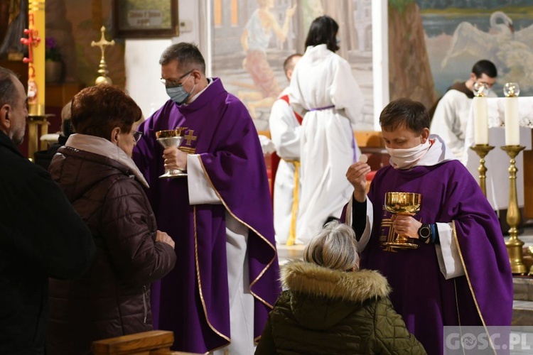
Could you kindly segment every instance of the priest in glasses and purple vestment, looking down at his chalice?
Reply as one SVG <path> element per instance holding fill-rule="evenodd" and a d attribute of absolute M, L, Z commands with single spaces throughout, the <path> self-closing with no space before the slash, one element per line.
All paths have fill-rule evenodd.
<path fill-rule="evenodd" d="M 173 330 L 180 351 L 252 354 L 281 291 L 257 131 L 220 79 L 205 77 L 195 45 L 171 45 L 159 62 L 171 99 L 141 124 L 134 151 L 178 256 L 154 286 L 154 327 Z M 176 127 L 185 129 L 180 148 L 163 150 L 156 131 Z M 165 168 L 188 176 L 159 179 Z"/>

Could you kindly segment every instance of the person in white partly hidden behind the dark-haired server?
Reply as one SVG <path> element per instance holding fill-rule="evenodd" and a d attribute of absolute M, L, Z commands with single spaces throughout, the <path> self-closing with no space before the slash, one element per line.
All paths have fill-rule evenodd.
<path fill-rule="evenodd" d="M 301 54 L 289 55 L 284 71 L 289 82 Z M 300 131 L 302 116 L 289 104 L 290 88 L 286 87 L 270 110 L 270 136 L 281 158 L 274 180 L 274 230 L 276 242 L 293 245 L 296 241 L 296 216 L 300 187 Z"/>

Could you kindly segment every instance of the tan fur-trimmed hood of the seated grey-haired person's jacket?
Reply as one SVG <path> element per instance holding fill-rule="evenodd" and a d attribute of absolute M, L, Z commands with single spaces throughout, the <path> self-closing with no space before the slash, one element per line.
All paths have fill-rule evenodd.
<path fill-rule="evenodd" d="M 390 293 L 387 279 L 377 271 L 335 271 L 301 260 L 282 268 L 281 282 L 291 293 L 289 307 L 296 320 L 313 329 L 331 327 L 365 301 Z"/>

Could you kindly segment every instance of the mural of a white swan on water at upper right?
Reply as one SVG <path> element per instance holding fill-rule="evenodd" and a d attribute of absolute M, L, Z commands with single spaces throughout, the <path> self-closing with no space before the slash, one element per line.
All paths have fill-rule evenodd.
<path fill-rule="evenodd" d="M 520 96 L 533 95 L 532 0 L 416 0 L 437 96 L 468 79 L 475 62 L 497 67 L 492 88 L 502 97 L 505 82 L 517 82 Z"/>

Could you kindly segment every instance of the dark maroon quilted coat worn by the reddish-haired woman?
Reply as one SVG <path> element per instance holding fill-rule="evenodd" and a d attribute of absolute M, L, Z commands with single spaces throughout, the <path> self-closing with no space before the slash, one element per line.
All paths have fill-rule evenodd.
<path fill-rule="evenodd" d="M 176 263 L 155 242 L 156 219 L 141 185 L 117 161 L 62 147 L 50 174 L 97 246 L 79 280 L 50 279 L 47 354 L 88 354 L 91 342 L 151 330 L 150 284 Z"/>

